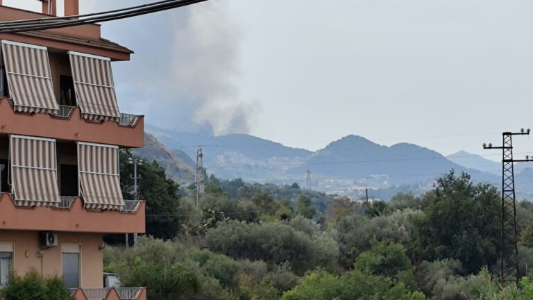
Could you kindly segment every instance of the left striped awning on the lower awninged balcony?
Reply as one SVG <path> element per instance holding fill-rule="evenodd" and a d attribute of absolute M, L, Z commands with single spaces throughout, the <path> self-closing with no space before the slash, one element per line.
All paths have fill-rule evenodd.
<path fill-rule="evenodd" d="M 11 135 L 11 185 L 18 206 L 58 206 L 56 140 Z"/>

